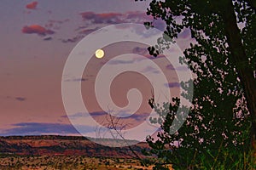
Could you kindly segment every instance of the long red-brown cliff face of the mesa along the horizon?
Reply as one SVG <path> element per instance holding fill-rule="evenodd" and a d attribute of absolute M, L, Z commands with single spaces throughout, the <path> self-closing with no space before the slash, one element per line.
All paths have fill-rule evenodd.
<path fill-rule="evenodd" d="M 148 148 L 145 143 L 132 146 L 141 155 Z M 64 156 L 132 156 L 127 147 L 112 148 L 96 144 L 84 137 L 74 136 L 9 136 L 0 137 L 0 153 L 17 155 L 64 155 Z"/>

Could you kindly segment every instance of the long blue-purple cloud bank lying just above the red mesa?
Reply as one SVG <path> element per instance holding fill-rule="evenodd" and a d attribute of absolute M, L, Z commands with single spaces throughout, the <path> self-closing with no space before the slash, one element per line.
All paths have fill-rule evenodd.
<path fill-rule="evenodd" d="M 58 133 L 58 134 L 68 134 L 76 133 L 78 131 L 71 124 L 61 124 L 61 123 L 40 123 L 40 122 L 20 122 L 16 123 L 6 130 L 1 135 L 40 135 L 44 133 Z M 92 127 L 84 127 L 84 131 L 92 130 Z"/>

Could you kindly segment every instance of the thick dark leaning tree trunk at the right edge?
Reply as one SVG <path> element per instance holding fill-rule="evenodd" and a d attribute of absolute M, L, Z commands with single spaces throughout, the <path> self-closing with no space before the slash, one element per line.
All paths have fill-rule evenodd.
<path fill-rule="evenodd" d="M 254 153 L 256 153 L 256 79 L 253 77 L 253 70 L 248 67 L 248 58 L 243 48 L 240 30 L 236 24 L 236 14 L 231 0 L 225 1 L 223 6 L 223 19 L 226 36 L 230 47 L 233 65 L 236 65 L 238 77 L 241 80 L 247 100 L 247 109 L 252 118 L 251 142 Z"/>

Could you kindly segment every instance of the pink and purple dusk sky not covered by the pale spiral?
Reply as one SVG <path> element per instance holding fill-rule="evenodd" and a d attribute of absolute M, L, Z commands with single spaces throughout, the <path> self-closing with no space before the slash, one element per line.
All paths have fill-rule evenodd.
<path fill-rule="evenodd" d="M 146 50 L 148 47 L 137 42 L 119 42 L 102 47 L 104 58 L 99 60 L 92 57 L 83 77 L 62 78 L 68 56 L 84 37 L 104 26 L 151 21 L 152 17 L 146 15 L 149 2 L 3 0 L 0 6 L 0 135 L 80 135 L 70 119 L 85 113 L 74 112 L 68 116 L 62 101 L 61 83 L 81 83 L 87 111 L 96 122 L 101 122 L 106 111 L 96 104 L 93 97 L 95 92 L 91 90 L 94 89 L 92 82 L 96 82 L 97 71 L 105 64 L 122 66 L 142 62 L 143 59 L 140 60 L 137 55 L 159 63 L 168 80 L 163 86 L 170 88 L 172 96 L 178 95 L 179 82 L 173 65 L 163 60 L 164 57 L 155 59 L 150 56 Z M 160 30 L 164 29 L 162 21 L 155 23 Z M 183 49 L 188 39 L 189 32 L 184 31 L 177 44 Z M 126 60 L 113 59 L 121 54 L 130 55 L 126 56 Z M 182 67 L 179 69 L 183 70 Z M 156 82 L 143 77 L 143 72 L 155 77 L 159 74 L 150 66 L 146 66 L 141 74 L 124 72 L 116 77 L 110 90 L 113 102 L 119 107 L 127 105 L 125 96 L 131 88 L 141 91 L 142 105 L 135 115 L 129 117 L 125 116 L 128 110 L 122 112 L 125 123 L 133 124 L 133 127 L 142 123 L 149 116 L 148 112 L 152 111 L 148 105 L 148 99 L 153 95 L 150 83 Z M 112 74 L 111 71 L 108 73 Z M 108 80 L 108 77 L 104 78 Z M 83 128 L 93 133 L 94 127 L 84 124 Z"/>

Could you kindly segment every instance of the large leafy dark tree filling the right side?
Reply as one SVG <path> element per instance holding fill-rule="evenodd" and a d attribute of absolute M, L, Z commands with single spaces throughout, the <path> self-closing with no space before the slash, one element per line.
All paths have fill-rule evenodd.
<path fill-rule="evenodd" d="M 205 161 L 211 157 L 222 161 L 232 150 L 240 151 L 240 155 L 235 153 L 240 159 L 242 152 L 252 149 L 247 146 L 253 147 L 256 135 L 255 9 L 255 1 L 250 0 L 153 0 L 149 4 L 147 14 L 166 22 L 166 35 L 175 39 L 184 29 L 189 29 L 195 39 L 180 58 L 197 76 L 188 119 L 177 133 L 170 134 L 179 100 L 154 107 L 160 115 L 158 119 L 162 119 L 163 131 L 156 141 L 151 137 L 147 141 L 153 148 L 151 154 L 161 158 L 160 164 L 172 160 L 173 165 L 187 162 L 179 167 L 200 166 L 200 162 L 193 162 L 201 160 L 200 154 L 209 157 Z M 154 26 L 153 22 L 145 25 Z M 157 56 L 168 48 L 166 44 L 148 48 L 149 54 Z M 189 88 L 187 82 L 181 85 Z M 250 138 L 247 138 L 249 127 Z M 173 141 L 179 141 L 180 146 L 173 148 Z M 220 150 L 224 150 L 221 156 Z M 193 159 L 184 160 L 188 156 Z"/>

